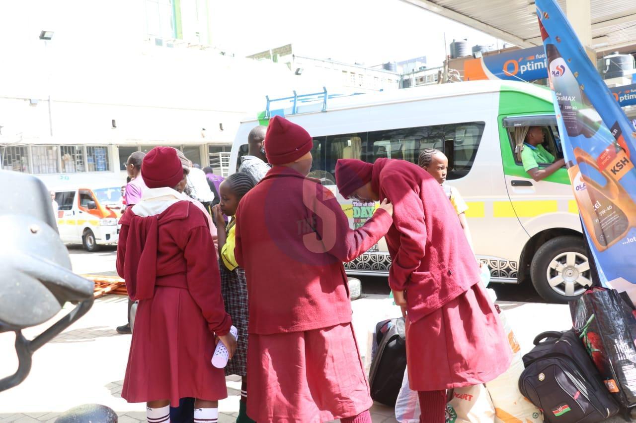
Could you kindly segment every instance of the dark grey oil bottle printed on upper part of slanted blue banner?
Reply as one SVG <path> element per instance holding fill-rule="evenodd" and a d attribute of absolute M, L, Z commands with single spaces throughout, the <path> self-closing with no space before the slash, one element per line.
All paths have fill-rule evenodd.
<path fill-rule="evenodd" d="M 555 44 L 546 44 L 546 53 L 550 64 L 550 84 L 555 91 L 567 135 L 593 137 L 602 126 L 600 115 L 579 88 L 576 77 Z"/>

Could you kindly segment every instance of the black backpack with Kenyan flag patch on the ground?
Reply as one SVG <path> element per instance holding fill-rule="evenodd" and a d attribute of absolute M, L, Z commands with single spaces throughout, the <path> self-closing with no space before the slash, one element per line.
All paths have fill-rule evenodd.
<path fill-rule="evenodd" d="M 523 356 L 519 390 L 546 422 L 595 423 L 619 412 L 574 330 L 541 333 L 534 345 Z"/>

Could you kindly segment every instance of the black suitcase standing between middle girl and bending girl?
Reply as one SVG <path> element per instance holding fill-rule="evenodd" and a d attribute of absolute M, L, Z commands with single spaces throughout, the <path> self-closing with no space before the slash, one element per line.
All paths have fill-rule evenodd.
<path fill-rule="evenodd" d="M 376 326 L 377 351 L 371 360 L 371 398 L 395 406 L 406 369 L 404 318 L 381 321 Z"/>

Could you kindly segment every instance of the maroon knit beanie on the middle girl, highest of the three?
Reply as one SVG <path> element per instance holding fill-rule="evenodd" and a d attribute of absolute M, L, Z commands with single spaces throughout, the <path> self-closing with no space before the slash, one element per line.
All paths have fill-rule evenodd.
<path fill-rule="evenodd" d="M 265 134 L 265 156 L 271 164 L 292 163 L 314 147 L 311 135 L 302 126 L 274 116 Z"/>

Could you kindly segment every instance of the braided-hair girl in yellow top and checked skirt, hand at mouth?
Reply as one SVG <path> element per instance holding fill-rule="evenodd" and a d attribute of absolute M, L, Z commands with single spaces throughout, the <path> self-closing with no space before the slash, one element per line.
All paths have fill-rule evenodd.
<path fill-rule="evenodd" d="M 221 270 L 221 294 L 225 309 L 232 317 L 238 329 L 237 350 L 225 367 L 225 375 L 242 377 L 239 417 L 237 423 L 253 422 L 247 417 L 247 280 L 245 271 L 239 267 L 234 257 L 236 219 L 234 215 L 239 201 L 247 191 L 256 185 L 251 175 L 243 172 L 234 173 L 219 185 L 221 202 L 212 207 L 212 216 L 216 226 L 225 225 L 226 216 L 232 217 L 225 231 L 218 231 L 219 268 Z"/>

